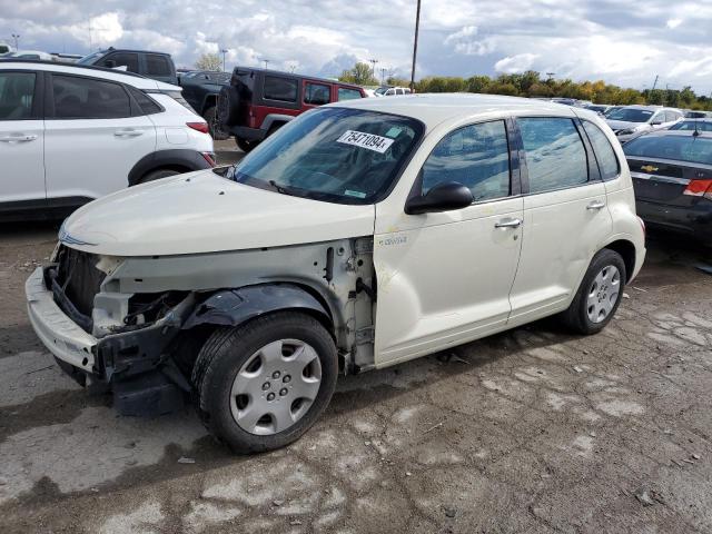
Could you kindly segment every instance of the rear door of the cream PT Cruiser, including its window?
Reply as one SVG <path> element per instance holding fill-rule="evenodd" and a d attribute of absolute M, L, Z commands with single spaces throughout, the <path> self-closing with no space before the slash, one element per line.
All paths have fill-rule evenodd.
<path fill-rule="evenodd" d="M 517 125 L 527 180 L 513 325 L 565 307 L 612 229 L 605 186 L 578 121 L 527 117 Z"/>

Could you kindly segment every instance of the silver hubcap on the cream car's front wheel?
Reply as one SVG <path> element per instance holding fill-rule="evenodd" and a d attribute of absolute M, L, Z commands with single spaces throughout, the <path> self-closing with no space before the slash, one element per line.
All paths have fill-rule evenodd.
<path fill-rule="evenodd" d="M 279 339 L 240 367 L 230 392 L 230 412 L 240 428 L 270 435 L 289 428 L 309 411 L 322 384 L 322 363 L 310 345 Z"/>

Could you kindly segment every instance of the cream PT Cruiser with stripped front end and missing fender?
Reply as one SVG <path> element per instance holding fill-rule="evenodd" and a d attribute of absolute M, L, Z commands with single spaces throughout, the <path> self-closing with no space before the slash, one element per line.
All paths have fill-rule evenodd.
<path fill-rule="evenodd" d="M 37 335 L 122 414 L 192 397 L 236 452 L 284 446 L 362 373 L 557 314 L 595 334 L 645 256 L 594 113 L 506 97 L 322 107 L 235 167 L 69 217 L 27 281 Z"/>

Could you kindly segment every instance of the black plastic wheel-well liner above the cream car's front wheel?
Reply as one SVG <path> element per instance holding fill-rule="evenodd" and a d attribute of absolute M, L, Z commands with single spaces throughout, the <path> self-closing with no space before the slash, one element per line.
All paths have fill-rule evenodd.
<path fill-rule="evenodd" d="M 184 323 L 187 330 L 198 325 L 238 326 L 270 312 L 303 309 L 318 314 L 328 324 L 328 310 L 314 296 L 294 284 L 260 284 L 212 294 L 196 306 Z"/>

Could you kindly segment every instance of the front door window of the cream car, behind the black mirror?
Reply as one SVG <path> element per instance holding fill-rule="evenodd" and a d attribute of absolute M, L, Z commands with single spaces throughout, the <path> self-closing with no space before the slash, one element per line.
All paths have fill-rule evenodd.
<path fill-rule="evenodd" d="M 423 191 L 456 181 L 475 201 L 510 195 L 510 150 L 504 121 L 482 122 L 445 136 L 423 166 Z"/>

